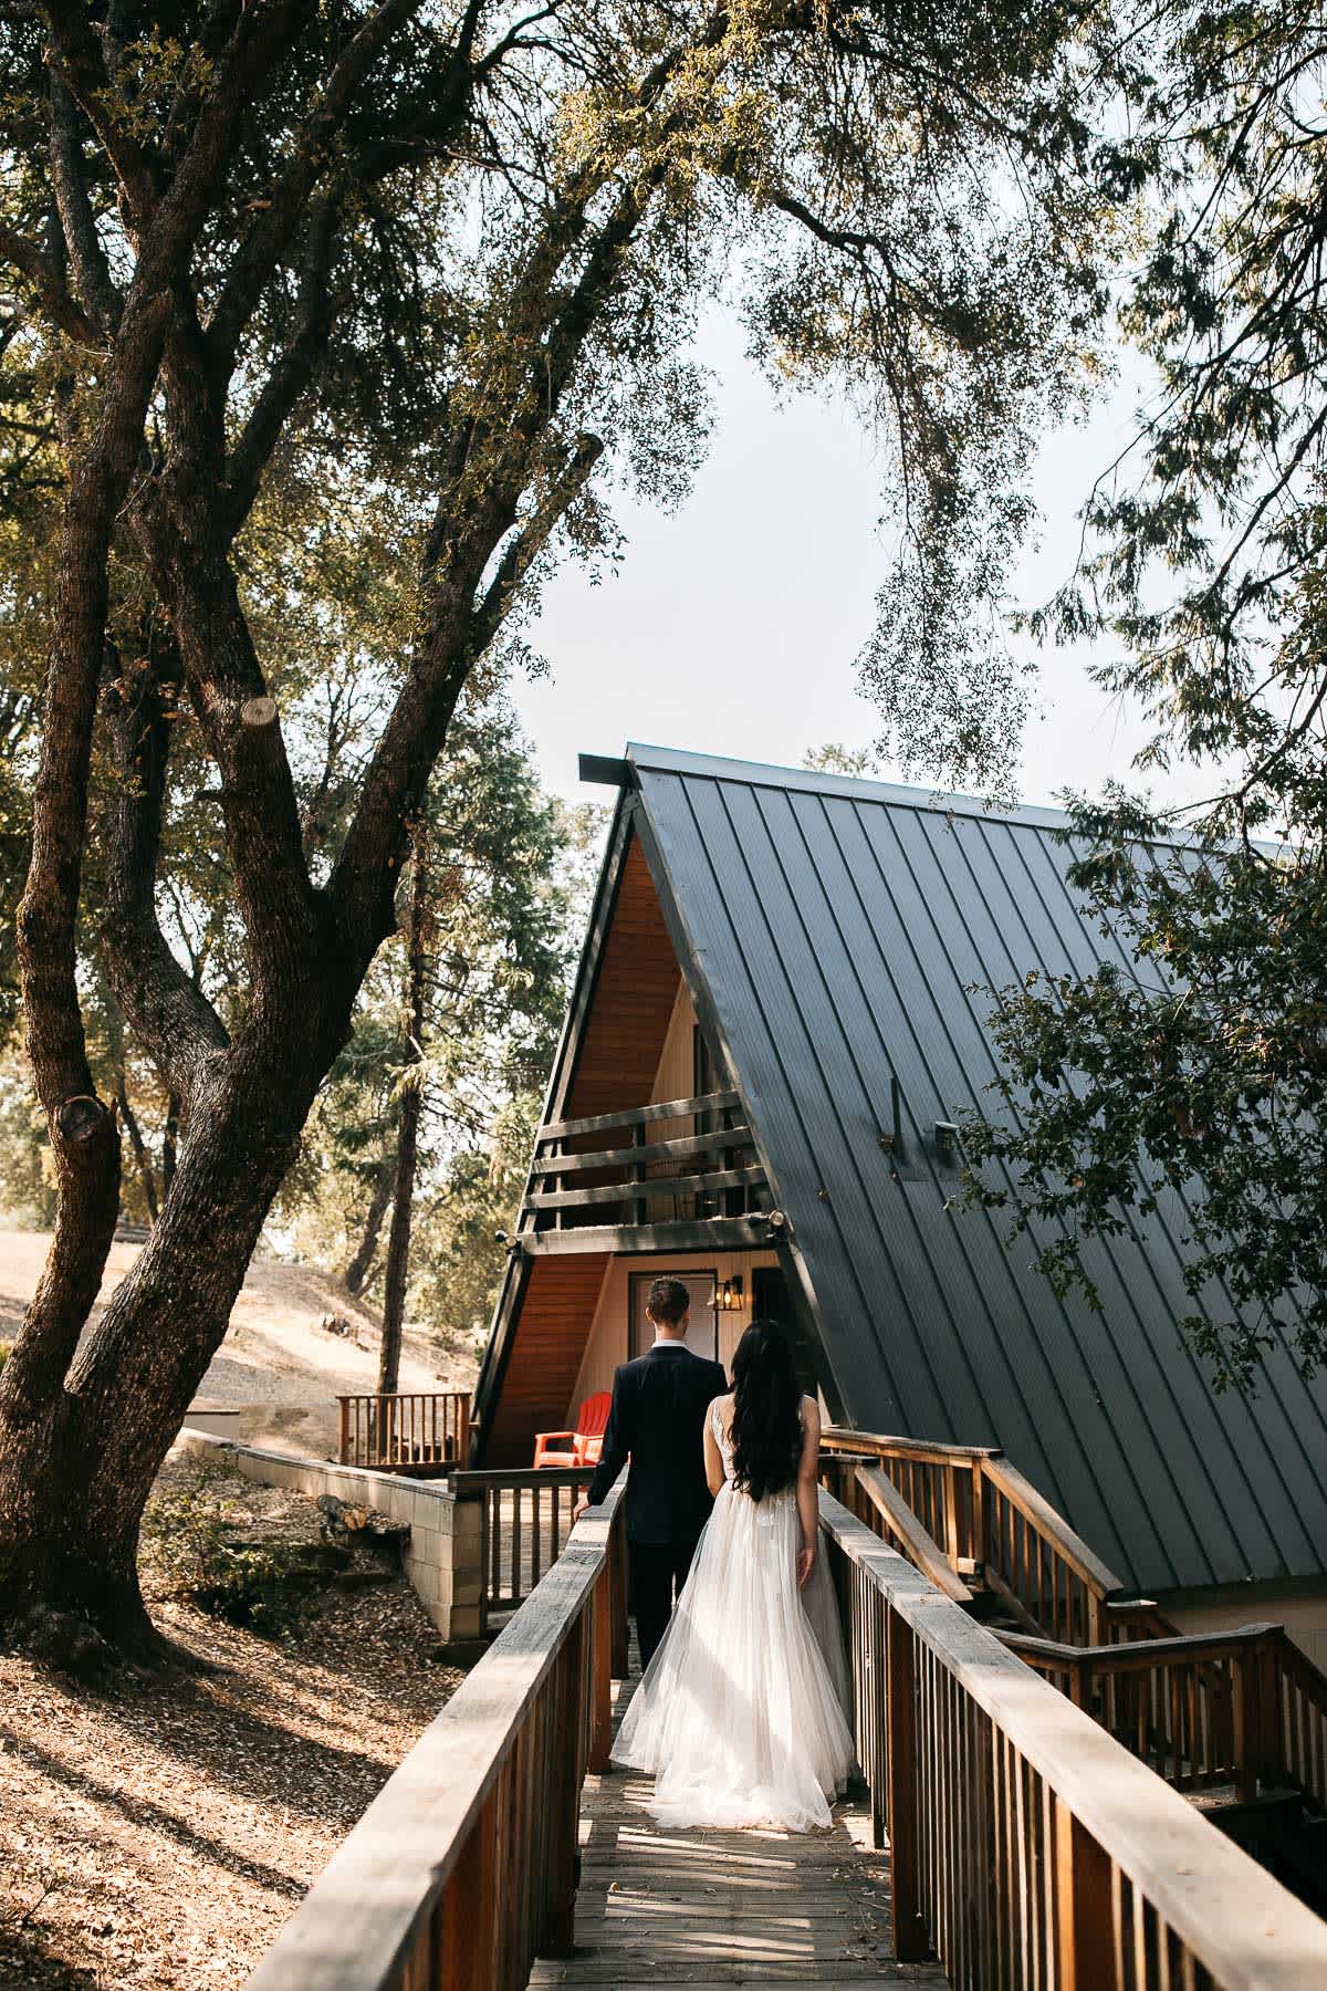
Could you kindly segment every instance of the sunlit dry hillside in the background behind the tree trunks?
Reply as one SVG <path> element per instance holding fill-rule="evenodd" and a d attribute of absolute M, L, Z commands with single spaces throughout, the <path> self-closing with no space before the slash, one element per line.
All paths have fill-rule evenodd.
<path fill-rule="evenodd" d="M 0 1224 L 0 1338 L 14 1336 L 36 1290 L 50 1236 Z M 111 1244 L 99 1310 L 125 1276 L 141 1246 Z M 320 1322 L 334 1316 L 348 1334 Z M 255 1258 L 235 1302 L 231 1328 L 199 1388 L 197 1402 L 241 1404 L 235 1434 L 249 1443 L 326 1457 L 336 1447 L 336 1396 L 372 1390 L 378 1380 L 382 1320 L 316 1266 Z M 470 1346 L 448 1350 L 406 1330 L 402 1390 L 470 1390 L 475 1378 Z"/>

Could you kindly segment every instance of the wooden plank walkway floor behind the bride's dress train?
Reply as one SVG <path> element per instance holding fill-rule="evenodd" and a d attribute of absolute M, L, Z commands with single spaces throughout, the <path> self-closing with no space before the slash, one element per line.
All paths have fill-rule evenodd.
<path fill-rule="evenodd" d="M 615 1728 L 635 1684 L 615 1686 Z M 535 1963 L 531 1991 L 949 1985 L 935 1963 L 893 1961 L 889 1854 L 871 1850 L 861 1800 L 830 1832 L 678 1832 L 655 1824 L 649 1794 L 629 1770 L 585 1780 L 575 1955 Z"/>

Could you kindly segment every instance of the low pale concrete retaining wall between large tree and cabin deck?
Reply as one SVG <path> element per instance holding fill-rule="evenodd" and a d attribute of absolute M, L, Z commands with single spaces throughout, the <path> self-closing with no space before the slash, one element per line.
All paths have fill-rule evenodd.
<path fill-rule="evenodd" d="M 402 1569 L 420 1603 L 446 1641 L 479 1637 L 479 1503 L 458 1501 L 446 1479 L 404 1479 L 326 1459 L 300 1459 L 288 1451 L 237 1445 L 189 1424 L 175 1455 L 181 1451 L 225 1461 L 265 1487 L 290 1487 L 308 1499 L 334 1493 L 356 1507 L 376 1507 L 392 1521 L 408 1521 Z"/>

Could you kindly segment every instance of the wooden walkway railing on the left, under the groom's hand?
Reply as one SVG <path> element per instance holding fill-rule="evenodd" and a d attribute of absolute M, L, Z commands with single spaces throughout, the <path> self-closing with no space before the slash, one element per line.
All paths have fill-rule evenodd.
<path fill-rule="evenodd" d="M 585 1772 L 627 1670 L 621 1483 L 426 1728 L 249 1991 L 523 1991 L 569 1955 Z"/>

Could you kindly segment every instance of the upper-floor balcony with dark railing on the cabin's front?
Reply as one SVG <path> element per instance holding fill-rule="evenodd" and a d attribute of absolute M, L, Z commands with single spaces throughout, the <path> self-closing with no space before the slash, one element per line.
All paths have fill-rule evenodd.
<path fill-rule="evenodd" d="M 784 1226 L 732 1091 L 549 1121 L 517 1218 L 521 1250 L 772 1244 Z"/>

